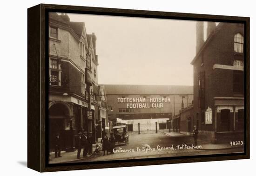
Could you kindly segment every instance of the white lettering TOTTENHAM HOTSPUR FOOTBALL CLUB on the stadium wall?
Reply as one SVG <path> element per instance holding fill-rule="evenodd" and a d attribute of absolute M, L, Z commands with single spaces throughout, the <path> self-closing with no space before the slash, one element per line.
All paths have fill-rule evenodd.
<path fill-rule="evenodd" d="M 162 108 L 163 102 L 171 102 L 169 97 L 154 97 L 149 98 L 149 103 L 146 103 L 146 98 L 117 98 L 118 103 L 127 103 L 126 108 Z"/>

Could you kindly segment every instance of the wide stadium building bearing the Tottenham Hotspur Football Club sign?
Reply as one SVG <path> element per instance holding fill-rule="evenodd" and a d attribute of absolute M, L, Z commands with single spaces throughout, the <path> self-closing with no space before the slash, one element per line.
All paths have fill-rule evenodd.
<path fill-rule="evenodd" d="M 120 118 L 129 131 L 168 128 L 169 120 L 193 100 L 193 86 L 105 85 L 108 118 Z M 171 125 L 171 123 L 170 123 Z"/>

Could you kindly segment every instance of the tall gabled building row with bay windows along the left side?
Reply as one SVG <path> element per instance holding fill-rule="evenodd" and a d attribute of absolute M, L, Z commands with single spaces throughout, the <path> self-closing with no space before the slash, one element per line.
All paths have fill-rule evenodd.
<path fill-rule="evenodd" d="M 60 133 L 63 150 L 74 150 L 78 132 L 101 136 L 97 103 L 96 36 L 67 14 L 49 13 L 49 148 Z M 100 133 L 100 134 L 97 134 Z"/>

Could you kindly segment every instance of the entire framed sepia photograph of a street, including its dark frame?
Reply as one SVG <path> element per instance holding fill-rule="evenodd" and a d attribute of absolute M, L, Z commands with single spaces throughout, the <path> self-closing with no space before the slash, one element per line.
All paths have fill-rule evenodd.
<path fill-rule="evenodd" d="M 27 12 L 29 168 L 249 158 L 249 17 Z"/>

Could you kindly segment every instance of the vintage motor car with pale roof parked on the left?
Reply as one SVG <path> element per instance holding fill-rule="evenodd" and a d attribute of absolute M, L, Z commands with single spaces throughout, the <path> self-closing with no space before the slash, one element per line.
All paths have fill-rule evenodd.
<path fill-rule="evenodd" d="M 129 143 L 129 135 L 127 135 L 126 125 L 114 126 L 112 129 L 115 136 L 115 144 L 124 143 L 127 145 Z"/>

